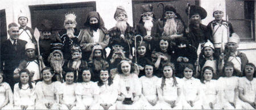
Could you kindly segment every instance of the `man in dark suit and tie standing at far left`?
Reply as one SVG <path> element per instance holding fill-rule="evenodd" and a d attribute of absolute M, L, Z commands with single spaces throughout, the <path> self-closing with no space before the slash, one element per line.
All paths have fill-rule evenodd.
<path fill-rule="evenodd" d="M 19 27 L 16 23 L 8 26 L 10 38 L 1 44 L 1 70 L 6 77 L 6 82 L 13 88 L 15 81 L 13 72 L 19 63 L 25 58 L 25 45 L 27 41 L 19 40 Z"/>

